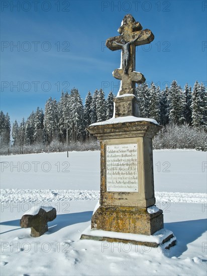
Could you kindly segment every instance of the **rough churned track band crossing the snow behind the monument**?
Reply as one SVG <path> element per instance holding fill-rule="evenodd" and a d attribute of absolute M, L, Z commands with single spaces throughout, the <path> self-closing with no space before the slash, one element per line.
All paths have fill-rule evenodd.
<path fill-rule="evenodd" d="M 5 202 L 51 202 L 70 200 L 98 200 L 96 190 L 29 190 L 1 189 L 0 200 Z M 155 192 L 156 202 L 204 203 L 205 193 Z"/>

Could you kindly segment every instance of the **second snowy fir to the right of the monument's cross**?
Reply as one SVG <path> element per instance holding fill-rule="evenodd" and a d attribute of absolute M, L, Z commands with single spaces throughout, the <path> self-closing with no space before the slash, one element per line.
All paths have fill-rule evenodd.
<path fill-rule="evenodd" d="M 153 82 L 150 86 L 149 116 L 160 122 L 160 87 L 156 88 Z"/>

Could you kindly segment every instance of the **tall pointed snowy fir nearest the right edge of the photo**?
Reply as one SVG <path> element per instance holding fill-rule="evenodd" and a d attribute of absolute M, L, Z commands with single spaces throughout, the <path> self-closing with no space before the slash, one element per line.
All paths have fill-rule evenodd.
<path fill-rule="evenodd" d="M 196 80 L 192 90 L 192 125 L 194 127 L 200 127 L 205 125 L 204 114 L 205 109 L 203 106 L 203 91 L 200 88 L 198 81 Z"/>

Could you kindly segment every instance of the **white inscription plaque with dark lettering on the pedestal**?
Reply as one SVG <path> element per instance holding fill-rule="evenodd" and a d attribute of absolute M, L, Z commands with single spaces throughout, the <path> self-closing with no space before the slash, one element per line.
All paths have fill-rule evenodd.
<path fill-rule="evenodd" d="M 137 165 L 137 144 L 107 145 L 107 192 L 138 192 Z"/>

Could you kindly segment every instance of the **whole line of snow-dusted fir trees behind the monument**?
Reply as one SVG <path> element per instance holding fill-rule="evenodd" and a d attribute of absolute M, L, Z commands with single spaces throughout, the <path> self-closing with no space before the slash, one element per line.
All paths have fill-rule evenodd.
<path fill-rule="evenodd" d="M 193 88 L 186 84 L 184 89 L 174 80 L 171 86 L 160 90 L 153 82 L 136 87 L 139 105 L 139 116 L 150 117 L 161 125 L 187 123 L 193 128 L 207 129 L 207 93 L 203 83 L 194 83 Z M 10 117 L 0 112 L 0 142 L 9 145 L 12 131 L 13 145 L 23 148 L 25 145 L 46 144 L 54 140 L 66 142 L 68 131 L 69 142 L 83 142 L 91 139 L 86 127 L 94 122 L 113 117 L 115 95 L 112 91 L 107 99 L 102 89 L 89 91 L 85 104 L 78 89 L 70 93 L 62 92 L 60 100 L 51 97 L 46 101 L 45 111 L 37 107 L 27 120 L 17 120 L 11 127 Z"/>

